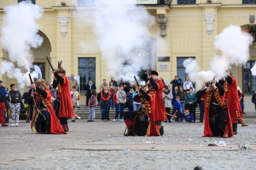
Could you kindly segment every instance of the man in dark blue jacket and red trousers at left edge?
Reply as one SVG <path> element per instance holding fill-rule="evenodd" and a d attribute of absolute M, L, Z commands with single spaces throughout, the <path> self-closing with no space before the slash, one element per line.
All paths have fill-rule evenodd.
<path fill-rule="evenodd" d="M 5 124 L 5 102 L 8 97 L 7 91 L 4 86 L 2 86 L 3 81 L 0 79 L 0 121 L 2 126 L 8 126 Z"/>

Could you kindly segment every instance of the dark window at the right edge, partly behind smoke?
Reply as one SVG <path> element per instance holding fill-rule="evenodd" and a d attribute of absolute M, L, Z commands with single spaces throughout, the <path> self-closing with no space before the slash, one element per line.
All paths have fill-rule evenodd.
<path fill-rule="evenodd" d="M 243 93 L 253 93 L 256 91 L 256 76 L 252 76 L 251 68 L 255 61 L 249 61 L 243 65 Z"/>

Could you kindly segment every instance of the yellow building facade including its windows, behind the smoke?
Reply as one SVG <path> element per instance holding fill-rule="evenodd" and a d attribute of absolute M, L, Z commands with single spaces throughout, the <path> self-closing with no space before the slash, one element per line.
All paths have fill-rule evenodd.
<path fill-rule="evenodd" d="M 93 11 L 95 6 L 87 3 L 87 0 L 35 0 L 34 2 L 44 10 L 43 17 L 37 20 L 39 34 L 44 41 L 42 46 L 33 49 L 33 52 L 34 63 L 41 66 L 45 79 L 49 82 L 53 79 L 46 61 L 48 56 L 54 66 L 57 65 L 57 61 L 62 61 L 67 75 L 86 74 L 84 78 L 80 78 L 80 83 L 84 85 L 89 79 L 95 80 L 96 87 L 100 86 L 103 79 L 109 82 L 111 76 L 107 74 L 108 67 L 96 43 L 93 28 L 81 22 L 79 13 L 74 13 L 77 9 Z M 88 2 L 93 1 L 88 0 Z M 252 29 L 255 26 L 254 0 L 137 0 L 137 2 L 145 4 L 138 6 L 146 8 L 150 15 L 155 17 L 156 22 L 150 28 L 148 35 L 155 41 L 156 55 L 152 57 L 156 60 L 156 66 L 152 69 L 157 70 L 167 84 L 175 75 L 184 81 L 186 75 L 181 63 L 186 57 L 195 57 L 202 70 L 209 70 L 210 61 L 218 53 L 213 44 L 214 38 L 227 26 L 250 26 Z M 0 0 L 0 18 L 4 15 L 5 6 L 17 3 L 18 0 Z M 0 25 L 2 26 L 2 19 Z M 81 42 L 85 43 L 84 48 L 81 47 Z M 239 87 L 245 94 L 245 111 L 255 114 L 251 96 L 252 92 L 256 91 L 256 79 L 248 73 L 256 60 L 254 46 L 255 43 L 250 47 L 249 65 L 234 66 L 232 70 L 237 77 Z M 8 60 L 8 55 L 2 50 L 0 62 L 5 60 Z M 82 72 L 83 69 L 86 71 Z M 0 74 L 0 79 L 3 79 L 3 85 L 7 87 L 16 82 L 3 74 Z M 197 89 L 199 88 L 197 85 Z M 85 96 L 81 96 L 82 100 L 85 100 Z"/>

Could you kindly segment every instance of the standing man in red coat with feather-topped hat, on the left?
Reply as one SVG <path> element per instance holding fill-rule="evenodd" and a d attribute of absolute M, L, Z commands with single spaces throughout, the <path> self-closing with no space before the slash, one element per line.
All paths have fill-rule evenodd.
<path fill-rule="evenodd" d="M 65 76 L 66 72 L 62 67 L 58 68 L 58 70 L 53 70 L 52 73 L 57 79 L 53 84 L 58 86 L 58 94 L 60 100 L 59 112 L 56 112 L 58 113 L 58 117 L 63 129 L 65 132 L 67 132 L 69 130 L 67 119 L 71 119 L 72 117 L 76 116 L 73 112 L 72 98 L 69 91 L 69 79 L 67 76 Z"/>

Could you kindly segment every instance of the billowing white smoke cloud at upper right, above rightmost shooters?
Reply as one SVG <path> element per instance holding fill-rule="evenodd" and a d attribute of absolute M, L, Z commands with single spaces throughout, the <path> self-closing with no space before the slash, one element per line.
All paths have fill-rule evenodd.
<path fill-rule="evenodd" d="M 253 37 L 250 34 L 234 25 L 228 26 L 215 36 L 215 48 L 221 51 L 221 55 L 215 55 L 210 65 L 217 79 L 225 77 L 231 65 L 239 66 L 249 60 L 249 46 L 252 42 Z"/>

